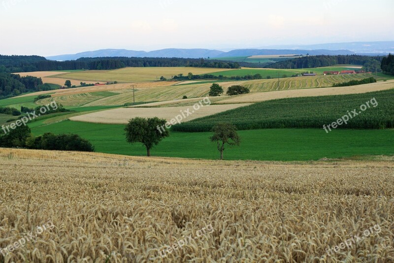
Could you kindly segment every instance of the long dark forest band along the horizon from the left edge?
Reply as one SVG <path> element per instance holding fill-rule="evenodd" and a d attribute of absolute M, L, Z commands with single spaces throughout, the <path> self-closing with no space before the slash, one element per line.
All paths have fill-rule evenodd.
<path fill-rule="evenodd" d="M 221 60 L 192 58 L 129 58 L 99 57 L 79 58 L 77 60 L 53 61 L 40 56 L 0 55 L 0 73 L 18 73 L 59 70 L 115 70 L 125 67 L 197 67 L 238 69 L 255 67 L 254 63 L 240 63 Z"/>

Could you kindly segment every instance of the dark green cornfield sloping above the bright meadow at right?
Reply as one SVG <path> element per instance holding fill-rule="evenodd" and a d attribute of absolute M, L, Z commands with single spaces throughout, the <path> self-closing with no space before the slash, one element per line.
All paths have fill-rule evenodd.
<path fill-rule="evenodd" d="M 377 103 L 375 107 L 369 103 L 373 98 Z M 338 125 L 338 128 L 394 128 L 393 100 L 394 89 L 363 94 L 271 100 L 177 124 L 172 126 L 172 129 L 183 132 L 210 131 L 221 121 L 230 122 L 239 130 L 323 128 L 323 125 L 337 121 L 347 114 L 352 117 L 349 117 L 346 125 Z M 361 112 L 360 107 L 366 102 L 370 107 Z M 358 113 L 356 116 L 350 113 L 354 109 Z"/>

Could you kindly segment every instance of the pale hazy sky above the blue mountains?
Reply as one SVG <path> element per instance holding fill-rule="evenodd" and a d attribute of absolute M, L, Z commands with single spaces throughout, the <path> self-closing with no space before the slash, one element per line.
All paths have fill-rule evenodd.
<path fill-rule="evenodd" d="M 0 54 L 393 40 L 394 0 L 0 0 Z"/>

